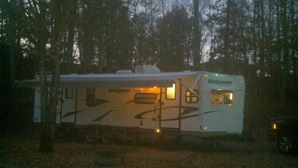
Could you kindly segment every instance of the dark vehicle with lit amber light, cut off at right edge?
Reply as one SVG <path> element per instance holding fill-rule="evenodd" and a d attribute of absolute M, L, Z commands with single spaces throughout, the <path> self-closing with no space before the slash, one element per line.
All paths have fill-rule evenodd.
<path fill-rule="evenodd" d="M 277 147 L 283 154 L 297 152 L 298 117 L 272 118 L 269 138 L 277 142 Z"/>

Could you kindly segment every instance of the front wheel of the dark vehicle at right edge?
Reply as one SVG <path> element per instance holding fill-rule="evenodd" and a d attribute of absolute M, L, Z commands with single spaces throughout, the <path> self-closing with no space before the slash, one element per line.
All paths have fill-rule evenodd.
<path fill-rule="evenodd" d="M 293 139 L 290 136 L 281 135 L 277 139 L 277 147 L 282 154 L 288 155 L 294 148 Z"/>

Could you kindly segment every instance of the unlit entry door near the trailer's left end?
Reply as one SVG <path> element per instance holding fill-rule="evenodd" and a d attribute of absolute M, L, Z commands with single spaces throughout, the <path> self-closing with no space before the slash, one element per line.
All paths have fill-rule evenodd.
<path fill-rule="evenodd" d="M 62 88 L 61 122 L 75 122 L 75 88 Z"/>

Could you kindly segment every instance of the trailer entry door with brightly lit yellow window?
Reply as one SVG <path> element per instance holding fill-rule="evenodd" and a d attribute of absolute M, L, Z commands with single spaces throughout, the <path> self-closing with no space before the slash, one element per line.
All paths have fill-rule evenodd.
<path fill-rule="evenodd" d="M 161 95 L 161 128 L 179 129 L 179 85 L 162 88 Z"/>

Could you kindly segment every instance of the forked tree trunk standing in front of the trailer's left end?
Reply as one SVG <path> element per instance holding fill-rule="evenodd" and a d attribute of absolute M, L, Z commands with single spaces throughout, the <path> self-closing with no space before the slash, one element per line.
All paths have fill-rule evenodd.
<path fill-rule="evenodd" d="M 61 49 L 62 49 L 62 37 L 63 37 L 63 23 L 64 17 L 66 15 L 65 9 L 61 4 L 62 1 L 55 0 L 53 1 L 53 13 L 54 13 L 54 46 L 53 46 L 53 62 L 54 70 L 53 77 L 51 82 L 51 89 L 49 95 L 49 102 L 47 104 L 48 97 L 48 85 L 43 84 L 47 80 L 45 75 L 45 57 L 42 57 L 41 61 L 41 70 L 43 70 L 41 75 L 41 83 L 43 86 L 42 93 L 42 103 L 43 106 L 43 117 L 42 117 L 42 129 L 41 129 L 41 142 L 40 150 L 43 152 L 51 152 L 54 150 L 54 134 L 55 134 L 55 123 L 56 123 L 56 111 L 58 104 L 58 95 L 59 95 L 59 83 L 60 83 L 60 64 L 61 64 Z"/>

